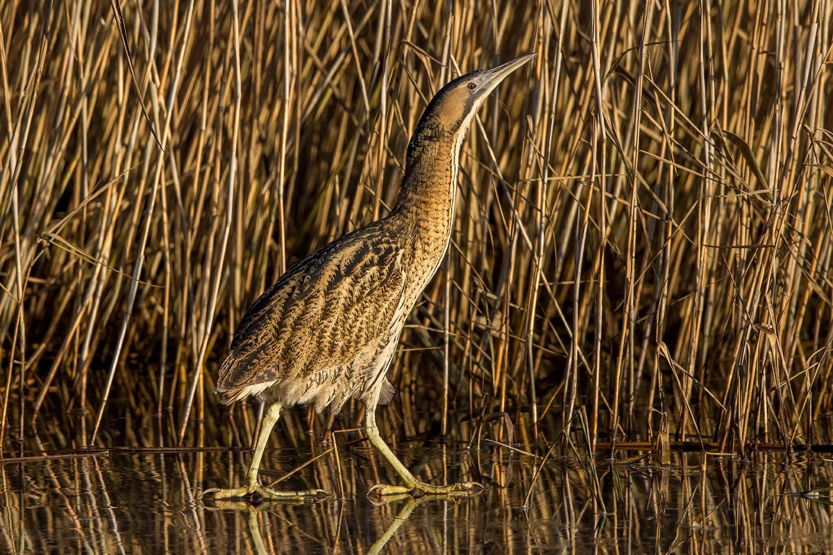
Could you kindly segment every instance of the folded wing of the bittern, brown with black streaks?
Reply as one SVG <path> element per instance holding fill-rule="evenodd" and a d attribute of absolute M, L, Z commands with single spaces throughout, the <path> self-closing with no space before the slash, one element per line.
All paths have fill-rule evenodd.
<path fill-rule="evenodd" d="M 349 364 L 391 325 L 402 249 L 369 225 L 307 256 L 249 307 L 222 364 L 224 402 L 243 388 Z"/>

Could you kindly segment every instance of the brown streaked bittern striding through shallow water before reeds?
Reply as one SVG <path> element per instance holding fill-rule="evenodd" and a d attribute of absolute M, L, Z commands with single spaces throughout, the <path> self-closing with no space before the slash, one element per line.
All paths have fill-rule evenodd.
<path fill-rule="evenodd" d="M 266 409 L 242 488 L 217 490 L 215 498 L 326 494 L 263 488 L 257 471 L 283 406 L 315 404 L 319 412 L 337 412 L 353 397 L 366 404 L 367 439 L 404 482 L 377 485 L 372 492 L 466 494 L 479 485 L 416 479 L 379 435 L 375 410 L 393 397 L 386 373 L 402 325 L 448 249 L 463 136 L 498 83 L 533 56 L 467 73 L 442 87 L 416 124 L 390 214 L 308 255 L 249 307 L 215 392 L 224 404 L 255 396 Z"/>

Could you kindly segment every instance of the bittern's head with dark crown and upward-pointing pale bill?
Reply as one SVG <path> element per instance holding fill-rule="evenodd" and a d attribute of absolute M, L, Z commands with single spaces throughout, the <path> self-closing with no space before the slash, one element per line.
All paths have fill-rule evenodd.
<path fill-rule="evenodd" d="M 419 141 L 431 139 L 432 136 L 451 134 L 461 141 L 477 109 L 495 90 L 506 76 L 535 57 L 535 54 L 517 57 L 492 69 L 480 69 L 466 73 L 449 82 L 440 89 L 428 103 L 416 126 L 414 139 L 408 148 L 408 158 L 418 146 Z"/>

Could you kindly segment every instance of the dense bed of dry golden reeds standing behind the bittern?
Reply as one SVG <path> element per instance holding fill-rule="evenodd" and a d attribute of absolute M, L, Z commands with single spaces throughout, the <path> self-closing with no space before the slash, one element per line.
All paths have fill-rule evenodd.
<path fill-rule="evenodd" d="M 2 2 L 4 440 L 67 409 L 87 410 L 79 445 L 110 410 L 171 408 L 174 439 L 218 414 L 244 310 L 387 213 L 433 92 L 538 52 L 463 146 L 393 410 L 526 414 L 533 441 L 579 439 L 583 405 L 591 444 L 811 442 L 833 368 L 831 13 Z"/>

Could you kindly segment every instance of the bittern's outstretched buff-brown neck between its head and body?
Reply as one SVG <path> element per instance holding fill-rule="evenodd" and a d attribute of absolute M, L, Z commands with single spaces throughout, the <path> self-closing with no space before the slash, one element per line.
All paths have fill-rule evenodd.
<path fill-rule="evenodd" d="M 457 169 L 465 127 L 447 130 L 420 121 L 408 145 L 405 175 L 393 212 L 414 230 L 416 258 L 439 264 L 454 221 Z"/>

